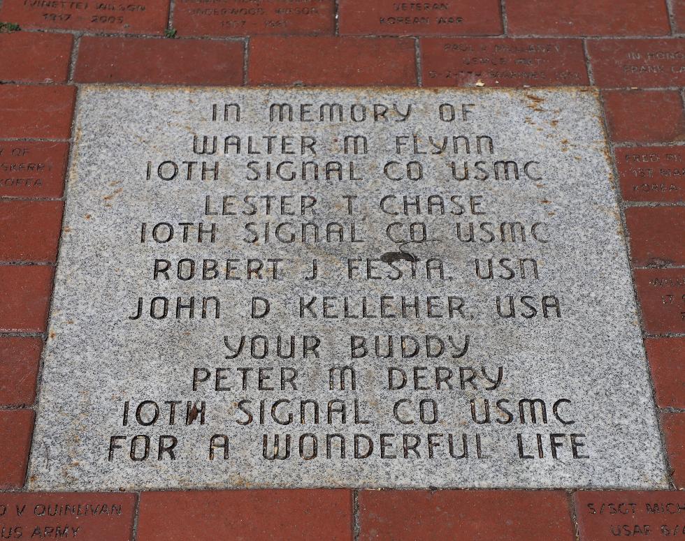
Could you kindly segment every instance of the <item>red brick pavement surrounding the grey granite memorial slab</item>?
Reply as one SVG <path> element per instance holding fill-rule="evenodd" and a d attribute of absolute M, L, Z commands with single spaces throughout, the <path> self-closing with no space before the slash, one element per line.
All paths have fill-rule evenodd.
<path fill-rule="evenodd" d="M 0 28 L 0 538 L 685 536 L 685 1 L 0 0 Z M 672 490 L 24 493 L 73 105 L 92 82 L 599 87 Z"/>

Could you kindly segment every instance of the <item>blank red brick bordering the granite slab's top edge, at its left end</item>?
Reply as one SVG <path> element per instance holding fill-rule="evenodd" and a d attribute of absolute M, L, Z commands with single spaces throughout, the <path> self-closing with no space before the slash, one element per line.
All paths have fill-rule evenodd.
<path fill-rule="evenodd" d="M 103 62 L 103 59 L 107 59 Z M 243 43 L 154 38 L 82 38 L 78 82 L 243 84 Z"/>

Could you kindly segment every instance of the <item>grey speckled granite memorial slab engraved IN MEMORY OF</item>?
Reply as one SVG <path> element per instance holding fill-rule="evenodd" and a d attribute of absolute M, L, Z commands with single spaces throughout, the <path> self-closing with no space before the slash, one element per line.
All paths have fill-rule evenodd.
<path fill-rule="evenodd" d="M 31 489 L 667 487 L 589 89 L 81 87 Z"/>

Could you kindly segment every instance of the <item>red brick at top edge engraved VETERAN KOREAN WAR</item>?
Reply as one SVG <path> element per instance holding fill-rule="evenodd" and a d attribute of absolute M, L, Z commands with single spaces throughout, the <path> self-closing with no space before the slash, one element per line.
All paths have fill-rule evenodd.
<path fill-rule="evenodd" d="M 341 35 L 449 36 L 502 33 L 498 0 L 340 0 L 338 6 L 338 29 Z"/>

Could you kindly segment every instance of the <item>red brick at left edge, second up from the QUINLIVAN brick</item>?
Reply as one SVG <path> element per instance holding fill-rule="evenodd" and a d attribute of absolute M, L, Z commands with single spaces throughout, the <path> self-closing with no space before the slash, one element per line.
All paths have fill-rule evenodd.
<path fill-rule="evenodd" d="M 0 406 L 34 402 L 42 349 L 39 338 L 0 337 Z"/>

